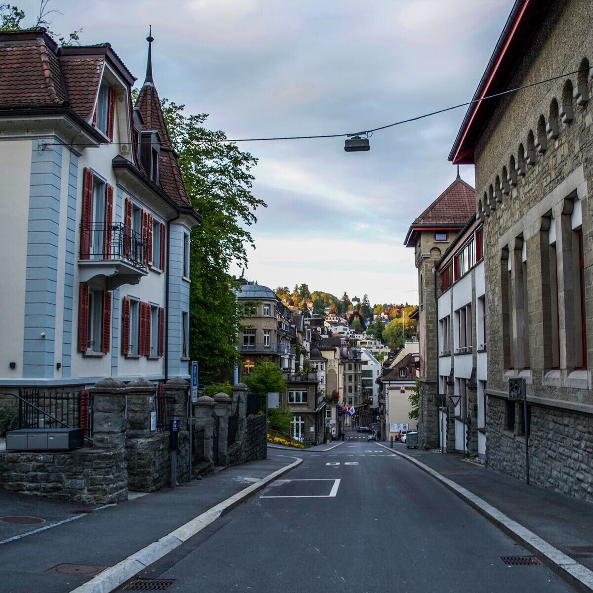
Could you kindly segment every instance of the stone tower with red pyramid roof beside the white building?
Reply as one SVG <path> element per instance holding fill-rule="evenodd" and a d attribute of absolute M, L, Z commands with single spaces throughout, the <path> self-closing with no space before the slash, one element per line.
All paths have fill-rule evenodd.
<path fill-rule="evenodd" d="M 413 247 L 418 270 L 417 332 L 420 352 L 420 400 L 418 442 L 420 447 L 439 446 L 439 392 L 437 278 L 433 270 L 458 232 L 476 211 L 476 192 L 459 176 L 412 223 L 404 245 Z"/>

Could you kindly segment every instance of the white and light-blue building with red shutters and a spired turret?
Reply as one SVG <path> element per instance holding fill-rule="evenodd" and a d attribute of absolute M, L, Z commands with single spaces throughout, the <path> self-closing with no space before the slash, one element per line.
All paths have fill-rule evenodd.
<path fill-rule="evenodd" d="M 148 66 L 0 33 L 0 387 L 188 377 L 193 209 Z"/>

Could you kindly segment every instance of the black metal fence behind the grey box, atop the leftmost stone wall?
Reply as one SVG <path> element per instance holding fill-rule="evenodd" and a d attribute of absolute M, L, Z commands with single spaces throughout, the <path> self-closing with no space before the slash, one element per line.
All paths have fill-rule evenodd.
<path fill-rule="evenodd" d="M 93 436 L 93 396 L 82 391 L 21 389 L 18 398 L 18 428 L 84 428 Z"/>

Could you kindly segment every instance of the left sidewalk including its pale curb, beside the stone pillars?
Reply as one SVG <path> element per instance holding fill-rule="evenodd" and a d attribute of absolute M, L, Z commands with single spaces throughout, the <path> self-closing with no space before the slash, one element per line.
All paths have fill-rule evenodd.
<path fill-rule="evenodd" d="M 112 591 L 301 462 L 299 451 L 268 451 L 267 460 L 94 508 L 0 490 L 0 517 L 44 520 L 0 522 L 0 588 L 3 593 Z"/>

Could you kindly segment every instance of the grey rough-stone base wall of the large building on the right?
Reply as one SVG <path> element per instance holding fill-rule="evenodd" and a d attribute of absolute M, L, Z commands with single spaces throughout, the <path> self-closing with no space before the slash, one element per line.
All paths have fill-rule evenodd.
<path fill-rule="evenodd" d="M 515 418 L 521 416 L 515 403 Z M 490 468 L 525 479 L 525 438 L 506 430 L 506 400 L 489 397 L 486 461 Z M 593 416 L 530 406 L 530 482 L 593 501 Z"/>

